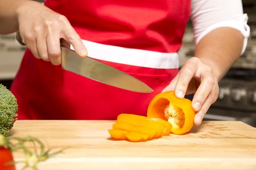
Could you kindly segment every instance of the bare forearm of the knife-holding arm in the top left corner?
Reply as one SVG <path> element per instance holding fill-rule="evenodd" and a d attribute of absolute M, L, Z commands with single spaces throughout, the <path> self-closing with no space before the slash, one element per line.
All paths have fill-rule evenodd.
<path fill-rule="evenodd" d="M 22 6 L 36 3 L 32 0 L 0 0 L 0 34 L 9 34 L 19 30 L 18 14 Z"/>

